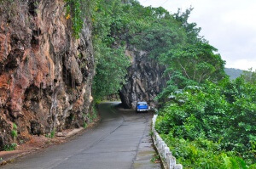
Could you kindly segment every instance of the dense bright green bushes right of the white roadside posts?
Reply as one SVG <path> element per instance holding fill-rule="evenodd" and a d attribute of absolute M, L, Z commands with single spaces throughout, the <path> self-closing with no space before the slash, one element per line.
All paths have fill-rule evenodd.
<path fill-rule="evenodd" d="M 233 82 L 224 79 L 218 84 L 206 82 L 202 87 L 185 87 L 172 94 L 175 99 L 160 110 L 156 129 L 170 146 L 176 147 L 173 149 L 177 149 L 176 155 L 184 164 L 221 168 L 224 166 L 218 163 L 223 164 L 225 159 L 226 165 L 235 165 L 231 168 L 245 168 L 243 163 L 249 166 L 256 162 L 256 86 L 242 78 Z M 199 140 L 212 144 L 202 149 Z M 197 156 L 200 153 L 207 156 Z M 215 166 L 194 163 L 201 158 L 212 159 L 205 165 Z"/>

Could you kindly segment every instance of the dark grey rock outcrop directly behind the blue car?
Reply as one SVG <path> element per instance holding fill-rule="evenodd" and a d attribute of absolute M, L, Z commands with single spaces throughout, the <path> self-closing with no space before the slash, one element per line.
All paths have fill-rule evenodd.
<path fill-rule="evenodd" d="M 154 98 L 166 87 L 168 80 L 164 76 L 165 67 L 143 51 L 127 50 L 126 55 L 131 58 L 131 66 L 128 68 L 127 83 L 119 92 L 122 104 L 135 109 L 137 101 L 147 101 L 155 107 Z"/>

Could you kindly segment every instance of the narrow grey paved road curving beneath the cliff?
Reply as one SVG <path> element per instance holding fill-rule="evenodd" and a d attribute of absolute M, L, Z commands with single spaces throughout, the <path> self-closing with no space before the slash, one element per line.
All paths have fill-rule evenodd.
<path fill-rule="evenodd" d="M 101 104 L 101 123 L 78 138 L 44 152 L 21 158 L 3 168 L 19 169 L 132 169 L 160 168 L 154 155 L 149 127 L 150 113 L 115 109 L 117 103 Z"/>

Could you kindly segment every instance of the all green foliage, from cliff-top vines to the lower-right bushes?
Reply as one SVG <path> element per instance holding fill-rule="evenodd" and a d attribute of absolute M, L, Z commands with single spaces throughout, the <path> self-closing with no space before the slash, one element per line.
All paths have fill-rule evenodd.
<path fill-rule="evenodd" d="M 93 28 L 96 99 L 118 93 L 125 83 L 125 50 L 144 51 L 166 66 L 170 78 L 158 96 L 157 129 L 179 162 L 189 168 L 255 167 L 255 72 L 233 82 L 225 77 L 218 50 L 188 22 L 192 8 L 170 14 L 136 0 L 67 0 L 78 18 L 75 34 L 81 16 L 75 8 L 82 1 Z"/>

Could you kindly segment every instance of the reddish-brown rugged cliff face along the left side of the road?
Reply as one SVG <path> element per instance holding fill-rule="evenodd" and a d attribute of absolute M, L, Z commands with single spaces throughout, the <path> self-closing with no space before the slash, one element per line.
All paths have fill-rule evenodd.
<path fill-rule="evenodd" d="M 0 147 L 83 126 L 94 76 L 90 22 L 75 39 L 63 0 L 2 1 L 0 10 Z"/>

